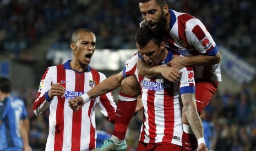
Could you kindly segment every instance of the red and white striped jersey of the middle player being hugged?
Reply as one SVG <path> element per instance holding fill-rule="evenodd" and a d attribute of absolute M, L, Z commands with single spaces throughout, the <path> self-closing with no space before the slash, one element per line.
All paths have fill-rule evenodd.
<path fill-rule="evenodd" d="M 172 59 L 169 51 L 163 64 Z M 137 75 L 138 54 L 133 56 L 124 68 L 124 76 Z M 180 94 L 194 93 L 194 74 L 192 67 L 182 68 L 180 83 L 171 83 L 157 76 L 148 79 L 139 76 L 141 101 L 144 107 L 143 124 L 141 126 L 140 142 L 173 143 L 182 146 L 182 117 L 179 100 Z"/>

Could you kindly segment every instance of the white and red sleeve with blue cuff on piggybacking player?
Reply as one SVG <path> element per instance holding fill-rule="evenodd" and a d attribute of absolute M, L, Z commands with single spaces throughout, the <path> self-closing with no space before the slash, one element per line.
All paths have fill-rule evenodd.
<path fill-rule="evenodd" d="M 192 44 L 199 54 L 215 56 L 218 52 L 216 44 L 210 33 L 198 19 L 192 19 L 187 25 L 187 40 Z"/>

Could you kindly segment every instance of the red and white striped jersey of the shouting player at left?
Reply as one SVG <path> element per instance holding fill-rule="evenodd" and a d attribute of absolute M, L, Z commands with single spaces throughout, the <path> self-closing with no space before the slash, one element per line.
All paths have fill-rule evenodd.
<path fill-rule="evenodd" d="M 102 114 L 115 122 L 116 104 L 111 93 L 96 97 L 76 112 L 68 106 L 68 100 L 81 96 L 106 79 L 106 76 L 88 66 L 86 71 L 74 71 L 69 61 L 62 65 L 48 67 L 42 76 L 34 112 L 40 115 L 50 107 L 49 135 L 46 150 L 91 150 L 95 148 L 95 110 L 96 104 Z M 66 89 L 64 97 L 55 96 L 49 100 L 48 90 L 52 84 L 60 83 Z"/>

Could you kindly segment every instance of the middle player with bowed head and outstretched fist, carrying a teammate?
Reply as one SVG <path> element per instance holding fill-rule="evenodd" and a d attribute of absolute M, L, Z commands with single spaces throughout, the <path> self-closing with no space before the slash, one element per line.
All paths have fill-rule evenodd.
<path fill-rule="evenodd" d="M 155 36 L 150 31 L 149 26 L 140 28 L 137 32 L 136 40 L 139 49 L 138 51 L 141 54 L 151 55 L 150 62 L 152 65 L 159 65 L 162 61 L 165 63 L 172 59 L 172 51 L 168 51 L 165 48 L 164 37 L 162 34 Z M 148 59 L 145 55 L 143 55 L 144 59 Z M 178 100 L 179 85 L 163 79 L 162 76 L 152 79 L 139 77 L 137 72 L 137 61 L 138 57 L 135 55 L 123 70 L 124 76 L 137 75 L 138 80 L 142 85 L 141 100 L 144 106 L 144 124 L 141 128 L 140 145 L 137 149 L 181 149 L 182 120 Z M 205 143 L 200 141 L 203 140 L 203 127 L 195 107 L 193 68 L 187 67 L 181 69 L 181 71 L 183 74 L 181 79 L 181 93 L 182 102 L 185 108 L 184 112 L 189 114 L 189 123 L 193 124 L 193 130 L 199 138 L 199 143 L 201 144 L 199 150 L 206 150 Z M 119 73 L 119 75 L 121 74 L 122 72 Z M 113 88 L 113 85 L 115 84 L 111 84 L 111 79 L 113 80 L 113 83 L 118 81 L 118 78 L 113 77 L 118 77 L 118 74 L 107 78 L 87 94 L 69 100 L 70 107 L 76 108 L 78 105 L 78 108 L 80 108 L 85 102 L 93 98 L 92 95 L 97 95 L 96 89 L 99 93 L 101 91 L 106 91 L 107 89 L 104 89 L 104 85 L 107 88 Z M 119 78 L 123 79 L 121 77 Z M 109 85 L 106 86 L 107 83 Z M 100 87 L 101 89 L 99 89 Z M 100 148 L 96 148 L 95 150 L 119 150 L 118 146 L 122 146 L 122 143 L 118 145 L 112 140 L 107 140 Z"/>

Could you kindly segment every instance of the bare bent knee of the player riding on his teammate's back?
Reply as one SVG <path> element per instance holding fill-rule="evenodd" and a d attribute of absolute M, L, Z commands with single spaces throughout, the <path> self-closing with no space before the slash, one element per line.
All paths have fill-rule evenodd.
<path fill-rule="evenodd" d="M 135 75 L 123 79 L 120 92 L 129 96 L 139 96 L 141 94 L 140 85 Z"/>

